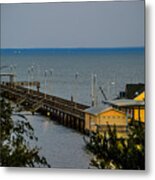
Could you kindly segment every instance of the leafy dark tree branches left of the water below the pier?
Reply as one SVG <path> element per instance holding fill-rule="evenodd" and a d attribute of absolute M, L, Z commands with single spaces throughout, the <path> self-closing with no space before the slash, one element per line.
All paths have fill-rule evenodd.
<path fill-rule="evenodd" d="M 39 156 L 38 147 L 30 147 L 37 141 L 27 119 L 13 121 L 10 103 L 0 99 L 0 164 L 7 167 L 50 167 L 45 157 Z"/>

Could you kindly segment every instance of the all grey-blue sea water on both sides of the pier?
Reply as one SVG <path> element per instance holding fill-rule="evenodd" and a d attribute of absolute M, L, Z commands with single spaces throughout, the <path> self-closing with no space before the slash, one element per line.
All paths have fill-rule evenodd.
<path fill-rule="evenodd" d="M 1 56 L 1 65 L 9 65 L 3 72 L 16 72 L 17 81 L 39 80 L 41 91 L 91 104 L 91 76 L 97 75 L 98 103 L 103 96 L 102 86 L 109 99 L 125 89 L 127 83 L 144 83 L 144 51 L 57 51 L 23 53 Z M 31 74 L 28 73 L 31 69 Z M 47 72 L 45 76 L 45 70 Z M 76 74 L 78 74 L 77 78 Z M 82 135 L 49 121 L 43 116 L 28 116 L 39 146 L 52 167 L 88 168 L 90 156 L 83 150 Z"/>

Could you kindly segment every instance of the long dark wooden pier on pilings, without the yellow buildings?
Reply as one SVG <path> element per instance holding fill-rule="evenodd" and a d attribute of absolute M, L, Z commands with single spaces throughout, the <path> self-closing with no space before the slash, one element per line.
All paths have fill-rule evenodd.
<path fill-rule="evenodd" d="M 25 84 L 25 83 L 23 83 Z M 38 85 L 38 83 L 34 83 Z M 60 97 L 48 95 L 38 90 L 28 89 L 22 83 L 1 83 L 0 93 L 2 97 L 12 100 L 32 114 L 40 112 L 49 118 L 56 120 L 64 126 L 76 129 L 84 133 L 85 113 L 89 106 L 76 103 Z"/>

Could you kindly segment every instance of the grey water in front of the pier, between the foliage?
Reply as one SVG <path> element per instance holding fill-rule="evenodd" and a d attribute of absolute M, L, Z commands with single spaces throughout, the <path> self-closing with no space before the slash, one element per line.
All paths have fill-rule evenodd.
<path fill-rule="evenodd" d="M 38 137 L 38 146 L 53 168 L 88 168 L 90 154 L 84 150 L 83 135 L 44 116 L 27 116 Z"/>

